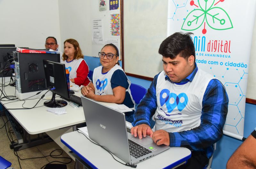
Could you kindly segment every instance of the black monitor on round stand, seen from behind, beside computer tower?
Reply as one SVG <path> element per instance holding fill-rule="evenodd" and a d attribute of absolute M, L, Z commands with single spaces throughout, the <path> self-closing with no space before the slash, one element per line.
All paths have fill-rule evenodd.
<path fill-rule="evenodd" d="M 52 88 L 52 99 L 44 102 L 47 107 L 64 107 L 68 103 L 64 100 L 56 100 L 55 95 L 60 95 L 64 98 L 69 98 L 68 84 L 66 76 L 65 64 L 43 60 L 44 73 L 46 78 L 47 88 Z"/>

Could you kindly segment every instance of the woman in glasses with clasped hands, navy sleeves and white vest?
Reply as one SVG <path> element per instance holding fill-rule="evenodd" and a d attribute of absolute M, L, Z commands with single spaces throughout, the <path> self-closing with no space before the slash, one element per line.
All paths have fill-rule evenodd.
<path fill-rule="evenodd" d="M 117 47 L 106 44 L 99 52 L 101 66 L 93 71 L 92 82 L 81 93 L 96 101 L 124 104 L 133 111 L 125 113 L 126 121 L 133 122 L 134 100 L 130 91 L 131 81 L 118 64 Z"/>

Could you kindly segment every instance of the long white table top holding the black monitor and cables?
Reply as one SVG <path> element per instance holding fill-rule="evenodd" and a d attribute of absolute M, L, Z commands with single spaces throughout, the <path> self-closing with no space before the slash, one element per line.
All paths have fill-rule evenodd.
<path fill-rule="evenodd" d="M 15 88 L 7 86 L 4 88 L 7 95 L 14 95 Z M 50 91 L 48 93 L 51 93 Z M 77 93 L 78 95 L 80 93 Z M 33 107 L 39 99 L 27 100 L 24 107 Z M 48 107 L 43 106 L 46 100 L 41 99 L 33 109 L 8 110 L 12 116 L 25 128 L 29 134 L 39 134 L 54 129 L 73 126 L 85 122 L 83 107 L 73 108 L 70 105 L 65 106 L 67 113 L 55 115 L 46 111 Z M 5 108 L 22 108 L 24 101 L 9 103 L 12 101 L 1 101 Z M 8 103 L 8 104 L 5 104 Z M 69 102 L 68 102 L 69 103 Z M 42 106 L 42 107 L 38 107 Z"/>

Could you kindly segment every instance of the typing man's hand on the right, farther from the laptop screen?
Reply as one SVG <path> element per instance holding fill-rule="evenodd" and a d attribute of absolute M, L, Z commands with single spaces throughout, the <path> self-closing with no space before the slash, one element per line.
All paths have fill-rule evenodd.
<path fill-rule="evenodd" d="M 153 142 L 156 143 L 156 145 L 170 145 L 170 138 L 169 133 L 165 130 L 157 130 L 152 135 Z"/>

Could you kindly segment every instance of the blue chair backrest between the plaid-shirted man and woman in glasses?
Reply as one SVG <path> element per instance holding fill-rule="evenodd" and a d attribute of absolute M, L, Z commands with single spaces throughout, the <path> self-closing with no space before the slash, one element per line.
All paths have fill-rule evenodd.
<path fill-rule="evenodd" d="M 132 99 L 135 101 L 136 104 L 140 103 L 140 100 L 145 96 L 147 93 L 147 89 L 143 88 L 140 85 L 132 83 L 130 86 Z"/>

